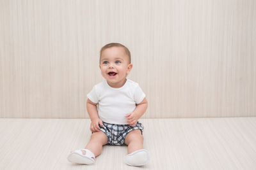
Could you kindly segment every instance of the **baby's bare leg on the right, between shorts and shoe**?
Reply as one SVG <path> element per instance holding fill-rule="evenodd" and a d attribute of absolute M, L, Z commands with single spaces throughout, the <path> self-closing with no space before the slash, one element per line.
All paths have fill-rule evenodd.
<path fill-rule="evenodd" d="M 143 148 L 143 136 L 140 129 L 129 132 L 125 136 L 125 144 L 128 145 L 127 152 L 132 153 Z"/>

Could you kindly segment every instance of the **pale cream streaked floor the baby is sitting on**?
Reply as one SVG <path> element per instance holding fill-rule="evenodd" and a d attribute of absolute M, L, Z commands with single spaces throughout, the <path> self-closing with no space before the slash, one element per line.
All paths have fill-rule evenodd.
<path fill-rule="evenodd" d="M 142 119 L 143 167 L 127 166 L 127 146 L 104 146 L 93 166 L 71 164 L 90 139 L 88 119 L 0 119 L 0 169 L 256 169 L 256 117 Z"/>

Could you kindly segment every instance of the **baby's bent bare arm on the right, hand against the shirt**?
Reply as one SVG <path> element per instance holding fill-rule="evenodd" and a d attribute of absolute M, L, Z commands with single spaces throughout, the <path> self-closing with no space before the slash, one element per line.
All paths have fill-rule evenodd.
<path fill-rule="evenodd" d="M 132 113 L 128 113 L 125 115 L 127 117 L 127 123 L 131 126 L 137 124 L 138 120 L 145 113 L 148 107 L 148 101 L 146 97 L 141 101 L 141 103 L 137 104 L 135 110 Z"/>

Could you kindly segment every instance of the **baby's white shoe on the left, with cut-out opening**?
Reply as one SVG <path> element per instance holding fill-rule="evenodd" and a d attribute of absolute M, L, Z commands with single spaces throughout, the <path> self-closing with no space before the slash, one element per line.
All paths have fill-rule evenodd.
<path fill-rule="evenodd" d="M 69 162 L 90 165 L 95 162 L 95 156 L 90 150 L 72 150 L 67 157 Z"/>

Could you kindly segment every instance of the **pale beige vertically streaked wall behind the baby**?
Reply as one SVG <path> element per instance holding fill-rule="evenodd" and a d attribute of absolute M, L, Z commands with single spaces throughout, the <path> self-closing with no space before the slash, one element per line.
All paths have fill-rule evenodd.
<path fill-rule="evenodd" d="M 99 50 L 131 50 L 143 118 L 256 116 L 254 0 L 0 1 L 0 117 L 88 118 Z"/>

